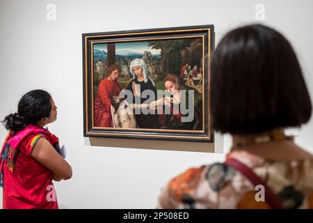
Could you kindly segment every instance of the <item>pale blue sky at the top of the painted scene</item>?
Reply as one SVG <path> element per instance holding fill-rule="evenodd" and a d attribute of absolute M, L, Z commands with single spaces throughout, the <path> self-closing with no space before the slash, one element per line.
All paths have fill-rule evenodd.
<path fill-rule="evenodd" d="M 95 44 L 94 49 L 104 50 L 106 52 L 106 44 Z M 148 47 L 148 42 L 115 43 L 115 53 L 118 55 L 143 54 L 145 51 L 149 51 L 153 55 L 159 55 L 161 53 L 160 49 Z"/>

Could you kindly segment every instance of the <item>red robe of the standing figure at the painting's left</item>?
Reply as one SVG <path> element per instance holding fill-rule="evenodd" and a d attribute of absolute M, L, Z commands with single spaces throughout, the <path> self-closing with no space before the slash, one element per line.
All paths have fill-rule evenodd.
<path fill-rule="evenodd" d="M 98 88 L 95 96 L 95 126 L 113 127 L 111 116 L 111 99 L 120 94 L 120 84 L 116 80 L 110 81 L 104 78 Z"/>

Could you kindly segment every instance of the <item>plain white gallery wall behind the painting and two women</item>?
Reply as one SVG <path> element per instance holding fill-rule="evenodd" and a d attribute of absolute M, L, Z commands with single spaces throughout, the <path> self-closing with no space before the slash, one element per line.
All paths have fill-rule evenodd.
<path fill-rule="evenodd" d="M 49 6 L 56 10 L 51 12 Z M 55 20 L 49 20 L 54 18 L 51 13 Z M 168 143 L 172 150 L 159 150 L 155 148 L 164 142 L 131 139 L 118 146 L 112 139 L 100 139 L 90 146 L 92 140 L 83 137 L 81 33 L 214 24 L 218 43 L 236 26 L 262 22 L 290 40 L 313 98 L 312 21 L 312 0 L 0 0 L 0 119 L 16 112 L 27 91 L 49 91 L 58 106 L 58 120 L 49 130 L 65 144 L 73 169 L 72 179 L 56 183 L 60 207 L 154 208 L 172 176 L 223 160 L 230 137 L 216 135 L 216 153 L 179 151 L 179 143 Z M 296 138 L 311 152 L 312 120 Z M 1 125 L 0 141 L 5 137 Z M 191 150 L 198 146 L 184 145 Z"/>

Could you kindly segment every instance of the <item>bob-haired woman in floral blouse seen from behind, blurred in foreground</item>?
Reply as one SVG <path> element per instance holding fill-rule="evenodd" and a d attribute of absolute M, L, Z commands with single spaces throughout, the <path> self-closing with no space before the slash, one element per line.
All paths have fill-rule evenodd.
<path fill-rule="evenodd" d="M 284 134 L 312 112 L 288 40 L 263 25 L 230 31 L 211 59 L 210 92 L 212 128 L 232 148 L 170 180 L 159 208 L 313 208 L 313 155 Z"/>

